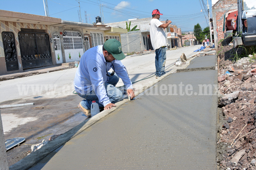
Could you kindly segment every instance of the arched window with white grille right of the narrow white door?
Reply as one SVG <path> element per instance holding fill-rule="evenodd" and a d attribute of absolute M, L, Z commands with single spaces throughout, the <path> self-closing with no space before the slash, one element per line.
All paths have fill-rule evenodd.
<path fill-rule="evenodd" d="M 63 32 L 64 49 L 82 49 L 82 37 L 79 32 Z"/>

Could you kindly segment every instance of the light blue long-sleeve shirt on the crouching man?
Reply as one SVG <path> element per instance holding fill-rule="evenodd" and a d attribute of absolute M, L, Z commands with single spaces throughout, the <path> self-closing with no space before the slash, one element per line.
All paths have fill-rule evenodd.
<path fill-rule="evenodd" d="M 81 57 L 74 79 L 76 92 L 85 95 L 94 90 L 100 104 L 105 107 L 111 103 L 106 93 L 104 82 L 108 82 L 109 77 L 106 74 L 112 64 L 115 73 L 122 79 L 126 89 L 132 89 L 131 80 L 122 62 L 118 60 L 114 60 L 112 63 L 106 62 L 102 52 L 102 45 L 98 45 L 87 50 Z"/>

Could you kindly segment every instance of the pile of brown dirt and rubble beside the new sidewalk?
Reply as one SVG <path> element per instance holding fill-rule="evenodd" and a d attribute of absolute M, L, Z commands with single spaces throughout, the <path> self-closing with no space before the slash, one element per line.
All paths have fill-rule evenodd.
<path fill-rule="evenodd" d="M 217 164 L 256 170 L 256 62 L 223 57 L 218 70 Z"/>

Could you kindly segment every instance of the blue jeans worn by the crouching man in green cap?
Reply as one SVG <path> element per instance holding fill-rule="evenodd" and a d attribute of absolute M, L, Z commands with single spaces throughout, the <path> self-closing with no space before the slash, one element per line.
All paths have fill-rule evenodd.
<path fill-rule="evenodd" d="M 120 91 L 118 88 L 115 87 L 118 81 L 119 81 L 119 76 L 117 74 L 114 74 L 113 76 L 109 77 L 108 82 L 104 83 L 104 86 L 106 88 L 106 94 L 108 95 L 111 103 L 117 103 L 123 98 L 122 91 Z M 95 100 L 96 103 L 98 103 L 99 107 L 104 107 L 104 105 L 99 103 L 98 97 L 95 94 L 94 90 L 90 91 L 88 94 L 85 94 L 85 95 L 82 95 L 82 94 L 77 94 L 77 95 L 86 99 L 86 100 L 82 100 L 80 104 L 82 105 L 83 108 L 87 110 L 90 110 L 90 105 L 92 105 L 93 100 Z"/>

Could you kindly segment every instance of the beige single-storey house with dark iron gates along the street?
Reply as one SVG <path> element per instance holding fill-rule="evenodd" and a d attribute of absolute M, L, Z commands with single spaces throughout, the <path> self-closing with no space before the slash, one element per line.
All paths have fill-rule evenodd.
<path fill-rule="evenodd" d="M 106 39 L 120 40 L 120 33 L 127 30 L 0 10 L 0 75 L 80 61 Z"/>

